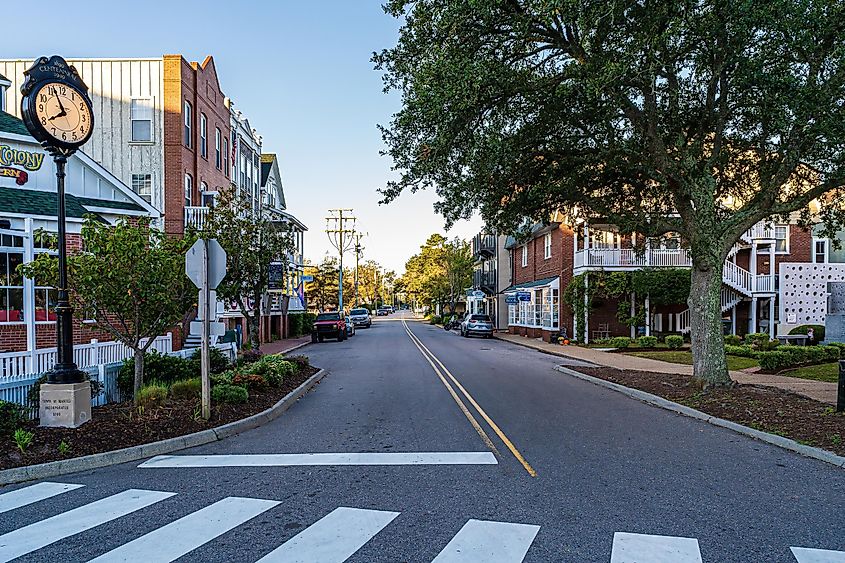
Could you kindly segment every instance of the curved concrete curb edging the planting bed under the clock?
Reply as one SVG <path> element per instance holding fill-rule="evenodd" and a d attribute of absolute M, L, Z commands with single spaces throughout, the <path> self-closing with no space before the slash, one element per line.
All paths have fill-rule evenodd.
<path fill-rule="evenodd" d="M 321 369 L 306 379 L 302 385 L 285 395 L 272 407 L 247 418 L 242 418 L 241 420 L 236 420 L 215 428 L 209 428 L 208 430 L 194 432 L 193 434 L 168 438 L 167 440 L 160 440 L 149 444 L 140 444 L 120 450 L 91 454 L 73 459 L 64 459 L 61 461 L 40 463 L 38 465 L 5 469 L 0 471 L 0 485 L 10 485 L 12 483 L 20 483 L 23 481 L 32 481 L 35 479 L 65 475 L 67 473 L 97 469 L 100 467 L 107 467 L 109 465 L 126 463 L 128 461 L 135 461 L 146 457 L 163 455 L 178 450 L 184 450 L 185 448 L 209 444 L 211 442 L 217 442 L 224 438 L 234 436 L 235 434 L 252 430 L 253 428 L 257 428 L 262 424 L 266 424 L 271 420 L 278 418 L 283 412 L 293 406 L 293 404 L 305 393 L 310 391 L 317 383 L 319 383 L 320 380 L 327 375 L 327 373 L 328 372 L 326 372 L 326 370 Z"/>

